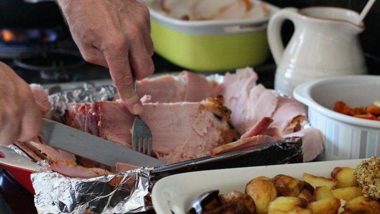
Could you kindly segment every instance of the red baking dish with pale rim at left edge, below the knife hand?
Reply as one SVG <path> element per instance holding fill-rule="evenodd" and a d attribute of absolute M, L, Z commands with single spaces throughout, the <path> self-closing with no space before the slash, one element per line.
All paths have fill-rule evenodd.
<path fill-rule="evenodd" d="M 0 146 L 0 164 L 18 183 L 30 193 L 35 194 L 30 174 L 37 170 L 37 164 L 3 146 Z"/>

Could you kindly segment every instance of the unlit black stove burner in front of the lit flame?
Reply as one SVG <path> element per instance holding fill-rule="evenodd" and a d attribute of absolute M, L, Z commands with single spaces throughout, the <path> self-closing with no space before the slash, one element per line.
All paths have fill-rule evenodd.
<path fill-rule="evenodd" d="M 77 52 L 56 49 L 23 52 L 14 59 L 18 67 L 40 72 L 44 80 L 69 81 L 69 70 L 85 62 Z"/>

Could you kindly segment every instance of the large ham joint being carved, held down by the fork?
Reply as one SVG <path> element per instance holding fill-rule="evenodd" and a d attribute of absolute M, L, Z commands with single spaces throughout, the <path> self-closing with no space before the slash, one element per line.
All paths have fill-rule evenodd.
<path fill-rule="evenodd" d="M 131 147 L 130 129 L 134 117 L 118 102 L 100 101 L 101 137 Z M 146 103 L 140 117 L 153 135 L 153 153 L 167 163 L 209 155 L 232 137 L 225 136 L 228 124 L 199 102 Z M 230 137 L 230 138 L 229 138 Z"/>

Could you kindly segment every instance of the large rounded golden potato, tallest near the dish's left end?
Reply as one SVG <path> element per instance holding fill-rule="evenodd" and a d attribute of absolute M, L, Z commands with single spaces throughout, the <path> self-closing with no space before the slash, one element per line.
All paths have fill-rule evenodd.
<path fill-rule="evenodd" d="M 271 180 L 265 180 L 262 177 L 252 179 L 245 186 L 245 193 L 255 201 L 256 212 L 259 214 L 267 212 L 269 203 L 277 198 L 276 186 Z"/>

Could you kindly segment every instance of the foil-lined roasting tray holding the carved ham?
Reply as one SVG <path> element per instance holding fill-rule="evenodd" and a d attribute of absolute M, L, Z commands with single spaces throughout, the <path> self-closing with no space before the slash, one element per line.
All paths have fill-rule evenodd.
<path fill-rule="evenodd" d="M 222 76 L 207 77 L 222 82 Z M 78 83 L 77 83 L 78 84 Z M 69 102 L 112 100 L 117 94 L 112 85 L 84 84 L 49 95 L 53 119 L 64 122 Z M 31 175 L 36 192 L 34 202 L 42 213 L 135 213 L 153 209 L 150 190 L 162 177 L 190 171 L 247 166 L 300 163 L 302 140 L 288 138 L 250 150 L 208 156 L 168 164 L 153 169 L 140 168 L 115 175 L 78 179 L 52 172 L 48 165 Z"/>

